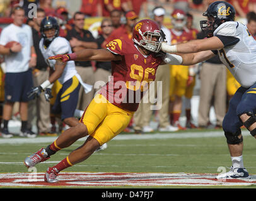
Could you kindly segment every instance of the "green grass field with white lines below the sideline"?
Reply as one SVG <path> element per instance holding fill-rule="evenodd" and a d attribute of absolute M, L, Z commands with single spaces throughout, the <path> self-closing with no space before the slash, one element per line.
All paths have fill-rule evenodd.
<path fill-rule="evenodd" d="M 224 135 L 202 136 L 207 131 L 185 131 L 170 134 L 161 133 L 156 139 L 113 139 L 108 148 L 94 153 L 88 160 L 67 168 L 65 171 L 86 172 L 146 172 L 146 173 L 219 173 L 219 166 L 230 167 L 231 159 Z M 214 131 L 212 131 L 214 135 Z M 156 133 L 150 134 L 153 136 Z M 182 136 L 185 134 L 185 136 Z M 199 136 L 195 137 L 195 134 Z M 124 134 L 119 134 L 122 136 Z M 179 137 L 180 135 L 180 137 Z M 141 136 L 143 134 L 131 136 Z M 45 137 L 46 139 L 47 137 Z M 49 138 L 49 137 L 48 137 Z M 2 138 L 3 139 L 3 138 Z M 1 140 L 0 139 L 0 142 Z M 19 139 L 19 138 L 13 138 Z M 35 138 L 36 140 L 37 138 Z M 39 138 L 38 138 L 39 139 Z M 40 138 L 44 139 L 44 137 Z M 54 141 L 55 138 L 52 138 Z M 243 136 L 244 165 L 251 175 L 256 174 L 256 141 L 252 136 Z M 9 139 L 12 140 L 12 139 Z M 1 143 L 0 173 L 28 172 L 23 160 L 26 156 L 46 147 L 50 143 Z M 57 164 L 83 141 L 77 141 L 69 148 L 51 156 L 48 163 L 37 165 L 38 172 Z M 52 161 L 52 162 L 51 162 Z"/>

